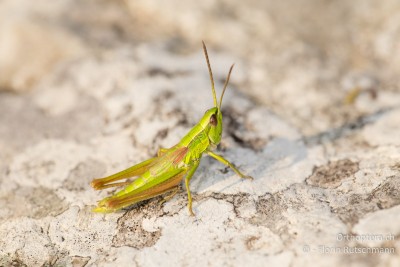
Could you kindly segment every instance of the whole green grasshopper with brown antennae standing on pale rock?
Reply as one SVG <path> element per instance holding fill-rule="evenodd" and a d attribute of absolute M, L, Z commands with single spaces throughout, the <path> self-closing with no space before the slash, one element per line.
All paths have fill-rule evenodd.
<path fill-rule="evenodd" d="M 125 186 L 126 188 L 99 201 L 94 212 L 108 213 L 128 207 L 137 202 L 153 198 L 158 195 L 170 193 L 164 200 L 171 199 L 178 191 L 179 184 L 185 178 L 185 186 L 188 196 L 188 209 L 190 215 L 194 216 L 192 210 L 192 196 L 189 182 L 200 164 L 203 153 L 213 157 L 234 170 L 241 178 L 253 179 L 241 173 L 232 163 L 224 157 L 212 152 L 221 141 L 222 135 L 222 112 L 221 104 L 226 87 L 229 82 L 233 66 L 229 69 L 224 89 L 217 103 L 214 88 L 214 79 L 208 59 L 207 48 L 203 42 L 203 50 L 207 61 L 208 72 L 211 80 L 211 90 L 214 98 L 214 107 L 207 110 L 199 121 L 182 140 L 171 148 L 160 148 L 157 156 L 145 160 L 126 170 L 111 176 L 94 179 L 91 186 L 96 189 L 104 189 L 114 186 Z M 115 182 L 118 180 L 138 176 L 133 182 Z"/>

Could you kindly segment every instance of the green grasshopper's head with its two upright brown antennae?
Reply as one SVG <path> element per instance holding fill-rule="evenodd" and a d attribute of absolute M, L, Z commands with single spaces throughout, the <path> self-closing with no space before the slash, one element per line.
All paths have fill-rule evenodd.
<path fill-rule="evenodd" d="M 231 68 L 229 69 L 228 77 L 225 80 L 224 89 L 222 90 L 222 94 L 218 103 L 217 96 L 215 93 L 214 78 L 211 71 L 210 60 L 208 59 L 207 48 L 204 42 L 203 42 L 203 50 L 206 56 L 208 72 L 210 74 L 211 90 L 214 98 L 214 107 L 206 111 L 206 113 L 202 118 L 202 122 L 203 125 L 208 124 L 208 126 L 210 127 L 209 128 L 210 130 L 208 132 L 208 139 L 210 140 L 210 143 L 213 145 L 218 145 L 219 142 L 221 141 L 221 136 L 222 136 L 222 112 L 221 112 L 222 98 L 224 97 L 224 93 L 229 83 L 229 78 L 231 76 L 231 72 L 234 65 L 232 65 Z"/>

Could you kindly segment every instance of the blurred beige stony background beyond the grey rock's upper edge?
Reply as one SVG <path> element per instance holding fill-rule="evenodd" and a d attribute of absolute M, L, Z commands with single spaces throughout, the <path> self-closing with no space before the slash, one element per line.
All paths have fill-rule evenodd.
<path fill-rule="evenodd" d="M 238 90 L 306 135 L 399 103 L 397 0 L 3 0 L 0 98 L 82 58 L 146 44 L 190 55 L 201 40 L 240 63 Z"/>

